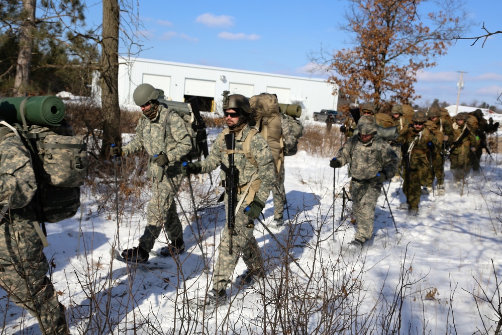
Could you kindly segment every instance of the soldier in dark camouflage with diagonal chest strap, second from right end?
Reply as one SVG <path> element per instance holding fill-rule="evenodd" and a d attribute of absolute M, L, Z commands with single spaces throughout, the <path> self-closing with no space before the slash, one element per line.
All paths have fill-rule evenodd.
<path fill-rule="evenodd" d="M 473 144 L 476 137 L 467 128 L 467 113 L 458 113 L 453 118 L 453 143 L 450 147 L 450 170 L 453 174 L 453 181 L 456 186 L 460 186 L 461 181 L 469 173 L 469 153 L 475 151 Z"/>

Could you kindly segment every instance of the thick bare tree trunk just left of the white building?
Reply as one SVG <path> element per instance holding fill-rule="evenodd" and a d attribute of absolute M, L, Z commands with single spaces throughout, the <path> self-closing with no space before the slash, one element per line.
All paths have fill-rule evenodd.
<path fill-rule="evenodd" d="M 103 0 L 103 36 L 101 42 L 101 108 L 103 116 L 103 145 L 101 156 L 106 158 L 110 145 L 121 145 L 119 108 L 119 22 L 118 0 Z"/>

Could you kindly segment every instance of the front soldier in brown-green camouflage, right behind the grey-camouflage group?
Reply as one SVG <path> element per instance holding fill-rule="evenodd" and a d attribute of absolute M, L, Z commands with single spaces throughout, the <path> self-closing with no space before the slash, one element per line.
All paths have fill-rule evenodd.
<path fill-rule="evenodd" d="M 418 205 L 422 195 L 422 184 L 431 169 L 431 151 L 439 148 L 434 133 L 426 128 L 425 112 L 415 112 L 413 126 L 399 135 L 398 141 L 403 144 L 403 160 L 405 160 L 405 176 L 403 192 L 406 195 L 408 213 L 418 214 Z"/>

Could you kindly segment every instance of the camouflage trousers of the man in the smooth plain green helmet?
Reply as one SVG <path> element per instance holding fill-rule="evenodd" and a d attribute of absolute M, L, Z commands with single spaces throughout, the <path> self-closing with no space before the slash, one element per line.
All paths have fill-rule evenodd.
<path fill-rule="evenodd" d="M 143 236 L 139 238 L 139 246 L 148 252 L 153 248 L 162 227 L 169 241 L 183 238 L 183 228 L 175 202 L 175 192 L 178 192 L 181 180 L 181 175 L 171 178 L 174 190 L 166 177 L 161 182 L 155 178 L 152 180 L 152 198 L 146 208 L 147 224 Z"/>

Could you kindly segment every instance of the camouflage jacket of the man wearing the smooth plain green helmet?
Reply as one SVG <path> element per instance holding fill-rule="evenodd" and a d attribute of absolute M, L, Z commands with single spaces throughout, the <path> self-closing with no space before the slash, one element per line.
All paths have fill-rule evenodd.
<path fill-rule="evenodd" d="M 164 138 L 164 120 L 168 109 L 163 105 L 157 106 L 157 117 L 153 120 L 142 115 L 136 126 L 136 136 L 133 140 L 122 148 L 124 156 L 145 149 L 150 155 L 150 159 L 160 152 L 164 152 L 169 159 L 170 167 L 179 167 L 179 162 L 191 149 L 190 135 L 185 126 L 185 122 L 177 113 L 171 113 L 171 131 L 166 129 Z M 151 176 L 161 179 L 162 169 L 156 164 L 149 164 Z M 178 169 L 179 170 L 179 169 Z"/>

